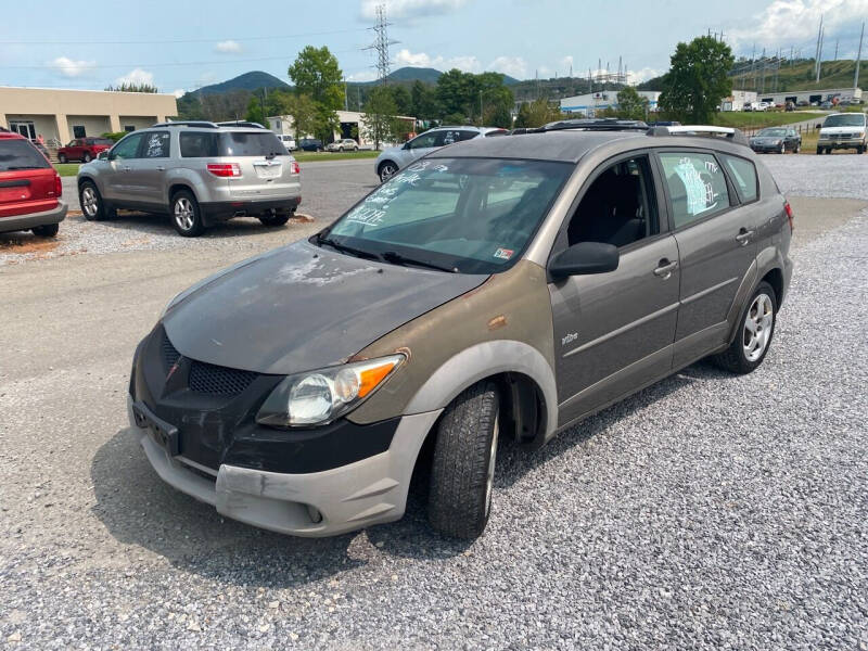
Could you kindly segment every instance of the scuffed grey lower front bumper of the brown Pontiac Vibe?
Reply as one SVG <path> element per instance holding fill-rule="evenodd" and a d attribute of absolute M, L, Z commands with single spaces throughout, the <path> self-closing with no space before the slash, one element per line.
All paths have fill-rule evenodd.
<path fill-rule="evenodd" d="M 347 465 L 288 474 L 224 463 L 213 476 L 213 471 L 182 456 L 170 456 L 150 430 L 140 427 L 131 396 L 127 396 L 127 411 L 148 460 L 167 484 L 212 505 L 226 518 L 305 537 L 333 536 L 399 520 L 419 450 L 441 414 L 436 410 L 401 417 L 385 452 Z"/>

